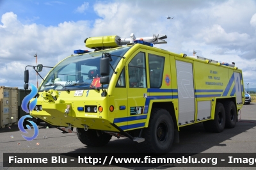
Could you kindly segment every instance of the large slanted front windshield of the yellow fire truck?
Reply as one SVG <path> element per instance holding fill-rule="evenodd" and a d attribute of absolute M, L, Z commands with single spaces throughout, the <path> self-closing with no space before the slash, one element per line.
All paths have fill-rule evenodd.
<path fill-rule="evenodd" d="M 118 49 L 102 50 L 99 52 L 92 52 L 79 56 L 70 56 L 63 60 L 51 73 L 45 78 L 39 91 L 57 89 L 72 90 L 72 89 L 90 89 L 90 85 L 94 78 L 100 77 L 100 58 L 103 52 L 108 52 L 115 56 L 124 56 L 129 50 L 129 47 L 122 47 Z M 115 69 L 121 58 L 112 56 L 113 61 L 111 66 Z M 111 79 L 113 70 L 109 71 L 109 78 Z M 104 88 L 107 86 L 104 85 Z"/>

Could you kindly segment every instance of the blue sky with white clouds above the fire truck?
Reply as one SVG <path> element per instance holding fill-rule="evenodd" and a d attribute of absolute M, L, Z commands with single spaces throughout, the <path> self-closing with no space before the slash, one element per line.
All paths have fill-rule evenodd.
<path fill-rule="evenodd" d="M 74 50 L 90 50 L 88 37 L 134 33 L 166 35 L 168 43 L 157 48 L 235 62 L 244 88 L 256 88 L 255 0 L 0 0 L 0 18 L 0 86 L 23 89 L 24 70 L 36 65 L 35 54 L 38 64 L 54 66 Z M 27 69 L 36 84 L 35 71 Z"/>

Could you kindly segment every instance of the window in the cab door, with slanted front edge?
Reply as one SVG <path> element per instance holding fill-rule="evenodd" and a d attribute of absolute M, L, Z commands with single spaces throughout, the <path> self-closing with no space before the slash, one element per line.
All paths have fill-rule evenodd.
<path fill-rule="evenodd" d="M 147 88 L 145 53 L 139 52 L 128 65 L 129 87 Z"/>

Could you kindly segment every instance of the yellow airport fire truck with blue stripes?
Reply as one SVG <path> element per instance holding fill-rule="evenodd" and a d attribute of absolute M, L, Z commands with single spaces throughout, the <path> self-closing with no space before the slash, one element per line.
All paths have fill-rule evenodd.
<path fill-rule="evenodd" d="M 86 47 L 94 51 L 75 50 L 52 68 L 31 116 L 55 127 L 76 127 L 87 146 L 129 137 L 150 153 L 170 151 L 180 127 L 234 128 L 244 103 L 242 71 L 234 63 L 153 47 L 165 38 L 87 38 Z M 25 78 L 28 88 L 26 70 Z"/>

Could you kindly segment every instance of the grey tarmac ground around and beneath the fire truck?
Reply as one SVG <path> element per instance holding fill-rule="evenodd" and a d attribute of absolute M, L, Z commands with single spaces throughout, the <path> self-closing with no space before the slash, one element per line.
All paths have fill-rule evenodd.
<path fill-rule="evenodd" d="M 256 103 L 244 105 L 235 128 L 221 133 L 205 132 L 198 123 L 180 128 L 180 143 L 173 143 L 170 153 L 254 153 L 256 158 Z M 0 129 L 0 169 L 74 169 L 74 167 L 3 167 L 3 153 L 137 153 L 131 139 L 112 137 L 106 146 L 87 147 L 77 134 L 63 134 L 56 128 L 41 123 L 39 134 L 26 141 L 17 125 Z M 29 130 L 27 130 L 29 131 Z M 76 132 L 76 130 L 74 130 Z M 33 129 L 27 136 L 33 135 Z M 136 156 L 136 154 L 134 154 Z M 256 161 L 256 159 L 255 159 Z M 256 162 L 255 162 L 256 164 Z M 84 169 L 85 167 L 75 167 Z M 256 169 L 254 167 L 86 167 L 86 169 Z"/>

